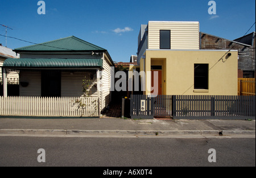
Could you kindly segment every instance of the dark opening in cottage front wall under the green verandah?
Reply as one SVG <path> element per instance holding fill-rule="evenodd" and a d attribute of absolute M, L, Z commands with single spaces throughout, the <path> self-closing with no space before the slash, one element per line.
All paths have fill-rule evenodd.
<path fill-rule="evenodd" d="M 42 97 L 61 97 L 60 71 L 42 71 L 41 74 Z"/>

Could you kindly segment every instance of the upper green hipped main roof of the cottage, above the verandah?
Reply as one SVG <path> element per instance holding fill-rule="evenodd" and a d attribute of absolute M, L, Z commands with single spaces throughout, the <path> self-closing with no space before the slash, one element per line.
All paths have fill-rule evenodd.
<path fill-rule="evenodd" d="M 16 48 L 14 51 L 106 51 L 106 49 L 85 42 L 75 36 L 69 36 L 51 42 Z"/>

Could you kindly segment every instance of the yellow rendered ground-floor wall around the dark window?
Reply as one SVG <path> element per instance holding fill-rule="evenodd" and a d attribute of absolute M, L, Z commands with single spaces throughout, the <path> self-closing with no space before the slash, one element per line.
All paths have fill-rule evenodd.
<path fill-rule="evenodd" d="M 152 64 L 162 65 L 163 80 L 166 80 L 162 82 L 163 94 L 237 95 L 238 53 L 231 51 L 229 53 L 232 55 L 228 57 L 225 55 L 226 52 L 148 50 L 145 68 L 146 71 L 150 71 Z M 194 64 L 199 63 L 209 64 L 208 90 L 194 89 Z M 151 77 L 147 73 L 146 85 L 151 85 Z M 146 90 L 145 94 L 150 94 L 150 91 Z"/>

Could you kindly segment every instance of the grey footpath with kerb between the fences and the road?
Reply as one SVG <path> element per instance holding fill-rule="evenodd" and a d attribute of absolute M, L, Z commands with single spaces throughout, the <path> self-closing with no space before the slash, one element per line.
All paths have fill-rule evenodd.
<path fill-rule="evenodd" d="M 255 120 L 122 119 L 122 118 L 3 118 L 0 136 L 63 137 L 250 137 Z"/>

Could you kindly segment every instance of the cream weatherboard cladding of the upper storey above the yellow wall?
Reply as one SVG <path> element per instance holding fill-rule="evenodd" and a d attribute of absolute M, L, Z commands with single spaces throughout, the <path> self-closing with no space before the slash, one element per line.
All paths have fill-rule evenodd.
<path fill-rule="evenodd" d="M 160 48 L 160 30 L 171 30 L 171 49 L 199 49 L 199 22 L 148 22 L 148 49 Z"/>

